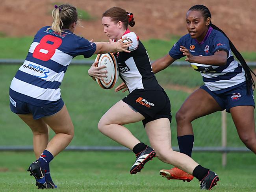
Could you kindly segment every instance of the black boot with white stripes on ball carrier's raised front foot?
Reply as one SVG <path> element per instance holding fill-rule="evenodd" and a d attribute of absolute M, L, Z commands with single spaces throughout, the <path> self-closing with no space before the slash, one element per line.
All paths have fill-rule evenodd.
<path fill-rule="evenodd" d="M 140 172 L 146 162 L 156 157 L 156 151 L 154 151 L 150 146 L 147 146 L 145 150 L 136 154 L 136 156 L 137 158 L 130 170 L 130 174 L 137 174 L 137 172 Z"/>

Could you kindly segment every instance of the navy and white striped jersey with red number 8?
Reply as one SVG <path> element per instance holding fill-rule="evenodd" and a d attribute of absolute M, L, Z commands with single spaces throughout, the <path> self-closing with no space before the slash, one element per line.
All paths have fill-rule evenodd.
<path fill-rule="evenodd" d="M 11 81 L 10 96 L 36 106 L 54 105 L 61 98 L 59 86 L 71 60 L 91 57 L 95 50 L 95 43 L 68 30 L 59 35 L 50 26 L 41 28 Z"/>

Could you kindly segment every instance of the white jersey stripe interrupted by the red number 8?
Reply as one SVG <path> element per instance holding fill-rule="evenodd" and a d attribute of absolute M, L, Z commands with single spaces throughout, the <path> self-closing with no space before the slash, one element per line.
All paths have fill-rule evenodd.
<path fill-rule="evenodd" d="M 39 44 L 39 42 L 32 42 L 30 49 L 28 52 L 33 53 L 35 50 L 35 47 Z M 47 50 L 41 49 L 40 52 L 47 53 Z M 64 52 L 56 49 L 54 55 L 50 58 L 52 61 L 55 61 L 59 63 L 60 65 L 67 66 L 70 64 L 73 57 L 69 54 L 65 54 Z"/>

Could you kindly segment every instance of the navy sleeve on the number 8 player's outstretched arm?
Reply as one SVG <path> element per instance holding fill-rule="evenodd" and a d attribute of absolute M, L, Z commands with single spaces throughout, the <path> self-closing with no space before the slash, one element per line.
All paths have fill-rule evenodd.
<path fill-rule="evenodd" d="M 84 58 L 91 57 L 96 51 L 96 44 L 94 42 L 89 42 L 83 37 L 76 37 L 77 49 L 76 55 L 83 55 Z"/>

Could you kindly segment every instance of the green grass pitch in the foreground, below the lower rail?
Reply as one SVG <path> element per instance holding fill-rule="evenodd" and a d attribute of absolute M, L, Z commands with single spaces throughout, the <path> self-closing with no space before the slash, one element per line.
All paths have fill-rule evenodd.
<path fill-rule="evenodd" d="M 0 191 L 38 191 L 33 177 L 26 169 L 34 160 L 32 152 L 0 152 Z M 113 158 L 116 159 L 113 163 Z M 202 166 L 215 171 L 220 182 L 216 192 L 252 192 L 255 185 L 255 155 L 252 153 L 228 154 L 228 165 L 221 167 L 221 154 L 194 153 L 193 158 Z M 200 191 L 197 179 L 190 183 L 171 180 L 158 175 L 162 168 L 172 166 L 155 158 L 141 173 L 130 175 L 134 163 L 132 152 L 68 152 L 60 153 L 51 162 L 51 175 L 57 191 L 82 192 L 180 192 Z M 246 165 L 245 165 L 246 161 Z"/>

